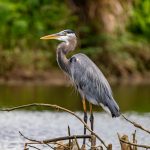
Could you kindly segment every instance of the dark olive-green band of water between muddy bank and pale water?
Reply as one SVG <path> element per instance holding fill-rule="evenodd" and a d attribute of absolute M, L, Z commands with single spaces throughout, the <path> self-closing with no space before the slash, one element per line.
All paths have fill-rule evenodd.
<path fill-rule="evenodd" d="M 114 97 L 122 111 L 150 111 L 150 85 L 114 86 Z M 73 87 L 19 85 L 0 86 L 0 106 L 15 106 L 33 102 L 57 104 L 71 110 L 82 110 L 80 95 Z M 96 110 L 101 108 L 95 107 Z"/>

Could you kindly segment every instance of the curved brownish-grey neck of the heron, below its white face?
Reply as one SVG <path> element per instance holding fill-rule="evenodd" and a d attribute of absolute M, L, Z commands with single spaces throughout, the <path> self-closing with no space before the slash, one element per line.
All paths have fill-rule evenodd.
<path fill-rule="evenodd" d="M 66 72 L 67 74 L 70 74 L 69 69 L 69 60 L 67 59 L 66 55 L 73 51 L 76 47 L 76 39 L 70 40 L 68 42 L 62 42 L 58 45 L 57 48 L 57 62 L 59 67 Z"/>

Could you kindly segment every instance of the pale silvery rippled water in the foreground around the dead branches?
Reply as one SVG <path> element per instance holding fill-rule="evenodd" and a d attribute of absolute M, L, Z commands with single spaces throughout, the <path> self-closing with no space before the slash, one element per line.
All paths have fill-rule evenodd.
<path fill-rule="evenodd" d="M 76 112 L 80 117 L 83 113 Z M 136 113 L 126 114 L 130 119 L 149 128 L 150 114 L 138 115 Z M 119 150 L 117 132 L 121 135 L 127 134 L 132 138 L 135 128 L 121 118 L 112 119 L 106 113 L 94 113 L 95 132 L 108 144 L 113 144 L 113 150 Z M 57 119 L 56 119 L 57 118 Z M 13 111 L 0 113 L 0 149 L 21 150 L 26 140 L 20 135 L 21 131 L 27 137 L 36 140 L 50 139 L 67 135 L 68 125 L 71 134 L 83 134 L 83 125 L 73 116 L 67 113 L 50 111 Z M 150 145 L 150 136 L 137 130 L 136 138 L 139 144 Z M 81 143 L 82 141 L 80 141 Z M 100 143 L 97 142 L 99 145 Z M 49 150 L 49 148 L 41 148 Z M 144 149 L 143 149 L 144 150 Z"/>

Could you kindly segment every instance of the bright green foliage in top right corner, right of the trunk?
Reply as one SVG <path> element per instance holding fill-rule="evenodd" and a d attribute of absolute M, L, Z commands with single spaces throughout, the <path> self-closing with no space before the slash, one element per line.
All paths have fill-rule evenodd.
<path fill-rule="evenodd" d="M 142 38 L 150 40 L 150 1 L 135 0 L 129 30 Z"/>

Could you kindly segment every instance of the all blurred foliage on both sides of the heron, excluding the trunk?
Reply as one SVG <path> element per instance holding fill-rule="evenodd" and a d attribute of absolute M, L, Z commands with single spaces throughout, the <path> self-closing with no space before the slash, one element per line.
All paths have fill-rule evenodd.
<path fill-rule="evenodd" d="M 70 8 L 67 1 L 0 0 L 0 75 L 16 68 L 34 71 L 55 67 L 56 42 L 44 42 L 40 37 L 67 28 L 79 33 L 79 48 L 106 74 L 118 77 L 149 71 L 150 1 L 134 0 L 133 4 L 127 29 L 106 34 L 94 25 L 100 17 L 91 21 L 87 14 Z"/>

